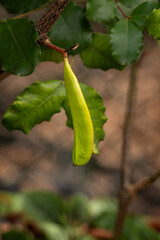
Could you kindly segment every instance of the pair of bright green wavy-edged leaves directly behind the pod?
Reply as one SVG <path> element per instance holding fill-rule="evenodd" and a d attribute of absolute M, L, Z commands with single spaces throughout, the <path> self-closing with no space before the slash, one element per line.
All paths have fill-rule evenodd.
<path fill-rule="evenodd" d="M 81 84 L 94 127 L 94 153 L 98 153 L 98 143 L 104 139 L 103 125 L 106 122 L 105 106 L 101 96 L 91 87 Z M 2 124 L 9 130 L 21 130 L 28 134 L 33 126 L 49 121 L 53 114 L 64 107 L 67 126 L 73 128 L 70 108 L 66 100 L 63 81 L 49 80 L 36 82 L 27 87 L 17 97 L 3 116 Z"/>

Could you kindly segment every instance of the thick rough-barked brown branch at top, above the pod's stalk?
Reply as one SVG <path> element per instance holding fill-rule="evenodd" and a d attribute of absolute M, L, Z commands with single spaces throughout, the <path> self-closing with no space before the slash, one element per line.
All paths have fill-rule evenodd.
<path fill-rule="evenodd" d="M 49 30 L 69 2 L 70 0 L 52 0 L 51 4 L 46 9 L 44 15 L 36 24 L 39 39 L 41 41 L 46 38 Z"/>

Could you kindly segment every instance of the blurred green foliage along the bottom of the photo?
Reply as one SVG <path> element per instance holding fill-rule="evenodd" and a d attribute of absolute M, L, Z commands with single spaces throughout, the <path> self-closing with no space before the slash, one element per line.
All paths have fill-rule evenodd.
<path fill-rule="evenodd" d="M 50 192 L 1 192 L 0 210 L 4 208 L 4 195 L 10 208 L 6 205 L 6 212 L 1 214 L 10 221 L 11 229 L 2 234 L 2 240 L 94 240 L 92 229 L 114 229 L 117 211 L 114 199 L 89 200 L 77 194 L 63 200 Z M 83 228 L 85 222 L 87 231 Z M 160 235 L 147 226 L 145 218 L 129 216 L 122 236 L 122 240 L 126 239 L 159 240 Z"/>

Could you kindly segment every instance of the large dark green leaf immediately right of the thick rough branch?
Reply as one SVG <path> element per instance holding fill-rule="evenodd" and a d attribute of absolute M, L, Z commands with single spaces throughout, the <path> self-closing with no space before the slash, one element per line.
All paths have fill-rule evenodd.
<path fill-rule="evenodd" d="M 68 49 L 79 43 L 76 54 L 92 40 L 92 30 L 81 7 L 70 2 L 49 32 L 53 44 Z"/>

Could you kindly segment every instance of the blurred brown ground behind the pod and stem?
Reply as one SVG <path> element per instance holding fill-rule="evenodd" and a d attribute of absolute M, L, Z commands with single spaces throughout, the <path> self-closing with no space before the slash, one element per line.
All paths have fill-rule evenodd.
<path fill-rule="evenodd" d="M 41 13 L 40 13 L 41 15 Z M 12 17 L 0 7 L 0 18 Z M 31 16 L 35 21 L 39 15 Z M 98 25 L 93 26 L 98 29 Z M 103 31 L 103 28 L 98 29 Z M 137 75 L 137 100 L 128 156 L 131 182 L 160 169 L 160 54 L 155 40 L 145 34 L 145 56 Z M 117 196 L 120 152 L 131 66 L 123 71 L 90 70 L 74 57 L 73 70 L 80 82 L 103 97 L 107 123 L 100 154 L 83 167 L 72 166 L 73 131 L 65 126 L 64 111 L 50 122 L 34 127 L 29 135 L 8 132 L 0 125 L 0 190 L 51 190 L 69 196 L 81 192 L 90 198 Z M 0 118 L 24 88 L 36 81 L 63 80 L 64 64 L 43 62 L 27 77 L 7 75 L 0 81 Z M 141 192 L 131 211 L 160 215 L 160 180 Z"/>

